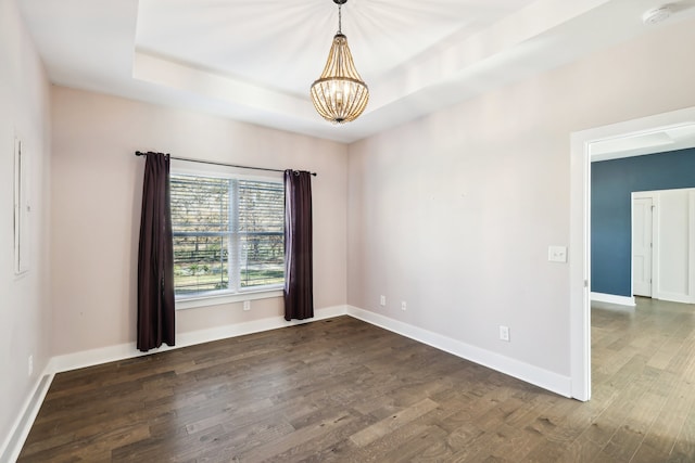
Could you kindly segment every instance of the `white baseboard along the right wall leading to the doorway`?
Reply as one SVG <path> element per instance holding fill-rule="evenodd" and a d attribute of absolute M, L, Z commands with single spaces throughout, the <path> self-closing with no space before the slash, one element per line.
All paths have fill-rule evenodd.
<path fill-rule="evenodd" d="M 435 347 L 445 352 L 460 357 L 471 362 L 488 366 L 501 373 L 508 374 L 518 380 L 559 394 L 571 397 L 571 378 L 560 374 L 530 365 L 519 360 L 510 359 L 500 353 L 491 352 L 479 347 L 471 346 L 460 340 L 453 339 L 441 334 L 433 333 L 380 313 L 348 306 L 348 314 L 367 323 L 389 330 L 393 333 L 409 337 L 417 342 Z"/>

